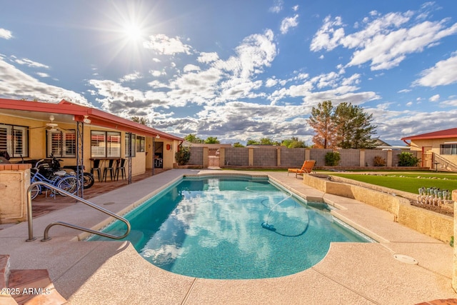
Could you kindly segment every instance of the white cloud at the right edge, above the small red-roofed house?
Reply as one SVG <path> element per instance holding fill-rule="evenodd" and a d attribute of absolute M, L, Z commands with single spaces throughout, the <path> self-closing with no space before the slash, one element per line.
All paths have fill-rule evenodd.
<path fill-rule="evenodd" d="M 435 66 L 421 72 L 421 78 L 414 81 L 415 86 L 446 86 L 457 82 L 457 53 L 446 60 L 438 61 Z"/>

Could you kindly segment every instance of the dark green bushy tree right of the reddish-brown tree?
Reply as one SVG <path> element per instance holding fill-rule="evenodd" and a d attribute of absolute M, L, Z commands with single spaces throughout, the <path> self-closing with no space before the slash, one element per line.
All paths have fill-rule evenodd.
<path fill-rule="evenodd" d="M 341 103 L 336 106 L 333 120 L 336 129 L 336 144 L 342 149 L 373 148 L 376 126 L 371 125 L 373 114 L 367 114 L 360 106 Z"/>

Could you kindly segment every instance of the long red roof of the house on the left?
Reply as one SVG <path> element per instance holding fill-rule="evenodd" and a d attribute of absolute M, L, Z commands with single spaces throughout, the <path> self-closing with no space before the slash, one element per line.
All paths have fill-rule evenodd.
<path fill-rule="evenodd" d="M 22 101 L 15 99 L 0 99 L 0 109 L 8 109 L 11 111 L 28 111 L 24 114 L 24 117 L 32 117 L 34 113 L 45 113 L 45 114 L 66 114 L 73 116 L 74 121 L 84 121 L 84 119 L 90 119 L 91 125 L 106 127 L 109 129 L 117 129 L 119 131 L 132 132 L 134 134 L 140 134 L 142 136 L 161 136 L 165 139 L 184 141 L 179 136 L 167 134 L 166 132 L 159 131 L 149 126 L 123 119 L 114 114 L 101 111 L 99 109 L 91 108 L 88 106 L 82 106 L 65 101 L 64 99 L 58 104 L 54 103 L 43 103 L 39 101 Z M 4 112 L 4 111 L 2 111 Z M 8 114 L 8 113 L 7 113 Z M 42 118 L 41 118 L 42 119 Z"/>

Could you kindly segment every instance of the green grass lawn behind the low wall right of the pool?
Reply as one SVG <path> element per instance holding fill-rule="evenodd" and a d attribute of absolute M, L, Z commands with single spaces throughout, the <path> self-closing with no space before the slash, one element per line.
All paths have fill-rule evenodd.
<path fill-rule="evenodd" d="M 343 178 L 353 179 L 356 181 L 366 182 L 378 186 L 385 186 L 399 191 L 408 191 L 413 194 L 418 194 L 418 189 L 422 186 L 438 187 L 439 189 L 447 189 L 452 191 L 457 189 L 457 174 L 441 174 L 427 172 L 414 173 L 387 173 L 380 172 L 378 174 L 343 174 L 331 173 L 333 176 L 341 176 Z"/>

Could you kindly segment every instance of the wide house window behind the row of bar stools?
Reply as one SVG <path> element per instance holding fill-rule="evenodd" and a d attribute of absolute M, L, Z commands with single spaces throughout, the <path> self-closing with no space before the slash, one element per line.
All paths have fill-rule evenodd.
<path fill-rule="evenodd" d="M 91 157 L 120 157 L 121 133 L 115 131 L 91 131 Z"/>

